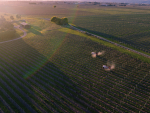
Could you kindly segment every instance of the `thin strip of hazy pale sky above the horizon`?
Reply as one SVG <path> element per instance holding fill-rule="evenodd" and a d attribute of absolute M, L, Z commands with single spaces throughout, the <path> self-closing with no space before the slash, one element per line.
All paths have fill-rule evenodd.
<path fill-rule="evenodd" d="M 119 2 L 119 3 L 150 3 L 150 0 L 0 0 L 0 1 L 91 1 L 91 2 Z"/>

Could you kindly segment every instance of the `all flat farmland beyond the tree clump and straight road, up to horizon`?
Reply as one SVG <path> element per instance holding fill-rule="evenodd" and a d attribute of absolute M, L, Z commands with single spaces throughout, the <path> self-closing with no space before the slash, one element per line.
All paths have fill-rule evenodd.
<path fill-rule="evenodd" d="M 53 8 L 56 5 L 56 8 Z M 150 10 L 148 6 L 102 7 L 98 5 L 76 5 L 50 3 L 48 5 L 16 4 L 1 6 L 0 11 L 7 14 L 22 14 L 26 19 L 68 17 L 76 27 L 105 38 L 124 43 L 133 48 L 150 53 Z M 34 20 L 32 20 L 34 21 Z"/>

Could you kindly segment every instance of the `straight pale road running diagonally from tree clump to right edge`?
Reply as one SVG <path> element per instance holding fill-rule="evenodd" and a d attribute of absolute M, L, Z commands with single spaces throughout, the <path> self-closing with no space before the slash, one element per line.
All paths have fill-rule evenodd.
<path fill-rule="evenodd" d="M 69 24 L 69 25 L 70 25 L 70 24 Z M 89 32 L 87 32 L 87 31 L 83 31 L 83 30 L 78 29 L 78 28 L 76 28 L 76 27 L 74 27 L 74 26 L 72 26 L 72 25 L 70 25 L 70 28 L 73 29 L 73 30 L 77 30 L 77 31 L 79 31 L 79 32 L 81 32 L 81 33 L 85 33 L 85 34 L 87 34 L 87 35 L 94 36 L 94 37 L 96 37 L 96 38 L 98 38 L 98 39 L 101 39 L 101 40 L 103 40 L 103 41 L 109 42 L 109 43 L 111 43 L 111 44 L 113 44 L 113 45 L 116 45 L 116 46 L 118 46 L 118 47 L 124 48 L 124 49 L 126 49 L 126 50 L 128 50 L 128 51 L 132 51 L 132 52 L 134 52 L 134 53 L 136 53 L 136 54 L 139 54 L 139 55 L 142 55 L 142 56 L 144 56 L 144 57 L 150 58 L 149 55 L 146 55 L 146 54 L 141 53 L 141 52 L 139 52 L 139 51 L 136 51 L 136 50 L 134 50 L 134 49 L 125 47 L 125 46 L 123 46 L 123 45 L 117 44 L 117 43 L 115 43 L 115 42 L 112 42 L 112 41 L 110 41 L 110 40 L 108 40 L 108 39 L 105 39 L 105 38 L 103 38 L 103 37 L 97 36 L 97 35 L 95 35 L 95 34 L 89 33 Z"/>

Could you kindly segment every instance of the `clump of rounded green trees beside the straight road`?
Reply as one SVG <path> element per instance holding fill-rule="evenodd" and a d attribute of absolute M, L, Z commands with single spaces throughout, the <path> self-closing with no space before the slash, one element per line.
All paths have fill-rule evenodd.
<path fill-rule="evenodd" d="M 58 18 L 56 16 L 53 16 L 51 18 L 51 21 L 55 22 L 58 25 L 66 25 L 66 24 L 68 24 L 68 18 L 66 18 L 66 17 L 63 17 L 63 18 L 60 19 L 60 18 Z"/>

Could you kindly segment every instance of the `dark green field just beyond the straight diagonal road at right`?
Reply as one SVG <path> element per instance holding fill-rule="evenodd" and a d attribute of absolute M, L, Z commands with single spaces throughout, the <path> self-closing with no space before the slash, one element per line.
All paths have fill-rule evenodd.
<path fill-rule="evenodd" d="M 99 15 L 77 17 L 73 24 L 83 30 L 150 53 L 149 19 L 148 14 Z"/>

